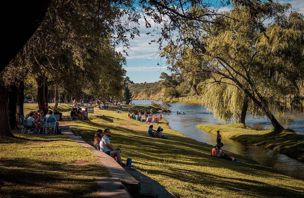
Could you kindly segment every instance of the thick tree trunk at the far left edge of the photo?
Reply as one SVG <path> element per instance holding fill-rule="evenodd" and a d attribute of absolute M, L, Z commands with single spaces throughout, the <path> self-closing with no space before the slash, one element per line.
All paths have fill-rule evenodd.
<path fill-rule="evenodd" d="M 9 119 L 5 115 L 8 112 L 8 97 L 7 97 L 7 89 L 4 83 L 0 82 L 0 137 L 1 136 L 8 136 L 8 137 L 15 137 L 10 128 Z"/>

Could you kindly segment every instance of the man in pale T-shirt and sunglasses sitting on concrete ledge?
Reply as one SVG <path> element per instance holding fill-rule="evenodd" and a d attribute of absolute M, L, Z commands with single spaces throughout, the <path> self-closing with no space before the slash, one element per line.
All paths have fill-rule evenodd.
<path fill-rule="evenodd" d="M 101 138 L 99 143 L 100 150 L 111 157 L 115 157 L 120 166 L 127 167 L 127 165 L 121 160 L 120 150 L 116 150 L 113 144 L 110 144 L 109 137 L 111 137 L 111 131 L 110 129 L 105 129 L 104 136 Z"/>

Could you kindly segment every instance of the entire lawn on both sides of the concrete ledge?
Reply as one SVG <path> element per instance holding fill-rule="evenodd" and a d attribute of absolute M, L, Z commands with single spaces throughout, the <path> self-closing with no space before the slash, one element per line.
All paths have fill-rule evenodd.
<path fill-rule="evenodd" d="M 128 107 L 129 105 L 123 105 L 123 109 Z M 132 105 L 131 109 L 132 112 L 137 112 L 144 107 Z M 117 111 L 118 106 L 110 106 L 109 110 L 95 108 L 95 114 L 102 114 L 105 117 L 89 115 L 92 122 L 76 120 L 64 121 L 64 124 L 69 125 L 72 130 L 77 130 L 89 144 L 93 142 L 97 129 L 110 128 L 111 144 L 115 147 L 121 146 L 123 161 L 126 162 L 127 158 L 131 157 L 132 165 L 177 197 L 303 197 L 304 181 L 301 179 L 280 174 L 274 169 L 260 166 L 256 161 L 233 153 L 226 152 L 235 156 L 240 162 L 211 157 L 211 145 L 190 139 L 172 130 L 165 119 L 155 127 L 161 126 L 164 134 L 172 140 L 148 137 L 149 124 L 127 118 L 126 111 L 121 114 Z M 0 173 L 0 181 L 4 183 L 1 196 L 6 195 L 2 192 L 11 192 L 11 196 L 6 197 L 20 197 L 18 196 L 22 194 L 19 193 L 18 189 L 20 189 L 23 194 L 31 195 L 26 197 L 39 197 L 39 192 L 44 190 L 43 182 L 51 180 L 44 191 L 44 194 L 51 195 L 50 197 L 55 197 L 54 195 L 58 195 L 60 191 L 64 192 L 64 195 L 70 192 L 69 197 L 96 197 L 97 188 L 94 187 L 97 184 L 93 178 L 106 174 L 106 171 L 95 169 L 102 166 L 87 149 L 81 148 L 62 135 L 14 134 L 22 141 L 7 139 L 1 140 L 0 144 L 0 165 L 4 170 Z M 223 136 L 222 131 L 221 134 Z M 15 165 L 14 161 L 22 163 L 18 162 Z M 83 164 L 84 162 L 89 164 Z M 92 172 L 87 170 L 88 166 L 90 168 L 92 166 Z M 73 167 L 77 167 L 74 169 L 76 171 Z M 14 170 L 18 171 L 15 173 Z M 14 177 L 22 179 L 12 179 L 13 172 Z M 27 172 L 30 174 L 23 176 Z M 35 176 L 32 179 L 32 173 L 36 172 L 43 177 Z M 23 182 L 24 180 L 33 182 Z M 60 181 L 60 184 L 56 184 L 55 190 L 49 187 L 51 183 Z M 73 192 L 76 186 L 78 186 L 77 191 L 81 192 L 79 196 Z"/>

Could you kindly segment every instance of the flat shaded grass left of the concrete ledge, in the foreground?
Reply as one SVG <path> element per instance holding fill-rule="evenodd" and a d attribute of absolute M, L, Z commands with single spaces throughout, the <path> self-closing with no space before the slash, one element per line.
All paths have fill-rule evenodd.
<path fill-rule="evenodd" d="M 108 170 L 66 136 L 14 133 L 0 141 L 0 197 L 98 197 Z"/>

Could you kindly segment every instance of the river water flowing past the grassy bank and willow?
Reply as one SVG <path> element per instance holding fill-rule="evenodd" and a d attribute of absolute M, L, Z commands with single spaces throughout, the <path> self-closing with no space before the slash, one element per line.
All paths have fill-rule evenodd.
<path fill-rule="evenodd" d="M 152 100 L 134 100 L 136 105 L 151 105 Z M 164 114 L 169 126 L 187 137 L 207 144 L 216 144 L 216 135 L 202 131 L 196 127 L 198 124 L 224 124 L 213 117 L 212 113 L 207 113 L 204 106 L 199 104 L 170 103 L 171 113 Z M 181 114 L 177 115 L 177 111 Z M 148 112 L 148 111 L 147 111 Z M 185 112 L 185 114 L 183 114 Z M 182 122 L 181 122 L 182 119 Z M 271 127 L 267 118 L 254 118 L 246 116 L 246 124 L 256 129 Z M 290 125 L 297 134 L 304 135 L 304 114 L 297 114 L 295 121 Z M 257 161 L 262 166 L 272 167 L 280 172 L 299 179 L 304 179 L 304 163 L 290 158 L 286 155 L 275 153 L 270 149 L 257 146 L 245 146 L 237 141 L 222 138 L 223 150 L 248 156 Z M 210 146 L 211 150 L 212 146 Z"/>

